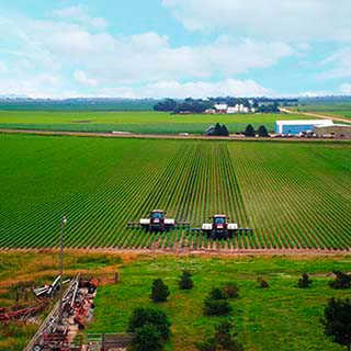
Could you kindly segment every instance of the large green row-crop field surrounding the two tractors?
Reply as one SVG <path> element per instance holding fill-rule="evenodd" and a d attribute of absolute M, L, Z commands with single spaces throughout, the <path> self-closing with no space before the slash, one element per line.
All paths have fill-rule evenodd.
<path fill-rule="evenodd" d="M 0 135 L 0 247 L 349 249 L 351 144 Z M 226 213 L 252 235 L 213 241 L 126 223 L 161 207 L 201 226 Z"/>

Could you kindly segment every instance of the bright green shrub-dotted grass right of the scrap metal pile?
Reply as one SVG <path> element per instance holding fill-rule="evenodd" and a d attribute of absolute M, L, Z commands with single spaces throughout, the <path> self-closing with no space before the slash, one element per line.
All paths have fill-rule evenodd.
<path fill-rule="evenodd" d="M 351 258 L 196 258 L 145 257 L 122 268 L 122 283 L 99 288 L 94 321 L 87 332 L 122 332 L 131 312 L 137 306 L 156 306 L 150 302 L 150 286 L 161 278 L 171 295 L 158 304 L 172 320 L 172 337 L 167 350 L 195 350 L 193 343 L 212 332 L 225 317 L 204 317 L 203 301 L 212 287 L 236 282 L 240 296 L 231 301 L 231 318 L 246 350 L 344 350 L 330 342 L 319 322 L 324 306 L 331 296 L 350 296 L 332 291 L 326 275 L 333 269 L 350 269 Z M 177 285 L 182 269 L 193 273 L 194 288 L 181 291 Z M 309 290 L 296 287 L 303 272 L 310 273 Z M 257 286 L 258 276 L 270 287 Z"/>

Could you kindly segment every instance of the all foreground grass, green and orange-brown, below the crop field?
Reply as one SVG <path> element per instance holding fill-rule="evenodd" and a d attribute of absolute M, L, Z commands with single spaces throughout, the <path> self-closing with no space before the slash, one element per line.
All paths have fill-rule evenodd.
<path fill-rule="evenodd" d="M 350 296 L 350 291 L 328 286 L 330 272 L 349 271 L 350 264 L 350 256 L 216 258 L 69 250 L 65 256 L 65 276 L 82 272 L 105 279 L 118 272 L 122 279 L 118 284 L 102 281 L 94 318 L 86 333 L 125 331 L 134 307 L 155 306 L 149 299 L 151 282 L 162 278 L 171 292 L 168 302 L 157 305 L 172 320 L 172 336 L 166 350 L 195 350 L 193 343 L 211 333 L 213 326 L 224 318 L 203 316 L 205 295 L 212 287 L 235 282 L 240 296 L 230 302 L 231 318 L 246 350 L 341 351 L 344 348 L 325 337 L 319 318 L 328 298 Z M 177 285 L 183 269 L 193 273 L 194 288 L 186 292 Z M 0 252 L 0 307 L 14 304 L 18 286 L 47 284 L 57 272 L 57 252 Z M 303 272 L 314 281 L 309 290 L 296 287 Z M 268 280 L 268 290 L 257 287 L 259 276 Z M 0 325 L 0 350 L 23 350 L 36 328 L 31 324 Z"/>

